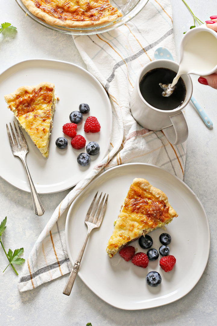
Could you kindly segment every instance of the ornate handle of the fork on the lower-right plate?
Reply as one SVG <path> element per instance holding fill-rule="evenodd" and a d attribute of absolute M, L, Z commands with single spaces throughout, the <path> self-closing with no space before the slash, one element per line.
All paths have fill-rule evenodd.
<path fill-rule="evenodd" d="M 65 288 L 64 288 L 64 290 L 62 292 L 65 295 L 70 295 L 70 293 L 72 291 L 72 287 L 73 287 L 73 284 L 75 282 L 75 277 L 76 277 L 76 275 L 78 273 L 78 269 L 80 267 L 80 263 L 81 263 L 81 259 L 82 259 L 83 253 L 84 253 L 84 249 L 85 249 L 86 244 L 88 242 L 88 238 L 89 238 L 89 235 L 90 235 L 91 231 L 92 231 L 92 229 L 91 230 L 88 229 L 85 240 L 84 240 L 84 242 L 82 244 L 82 247 L 81 247 L 81 249 L 79 251 L 79 254 L 78 254 L 78 256 L 77 256 L 77 258 L 75 260 L 75 264 L 73 265 L 72 272 L 70 273 L 68 281 L 67 281 L 67 283 L 65 285 Z"/>

